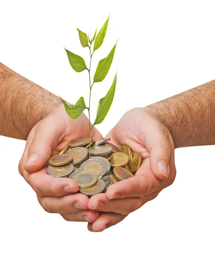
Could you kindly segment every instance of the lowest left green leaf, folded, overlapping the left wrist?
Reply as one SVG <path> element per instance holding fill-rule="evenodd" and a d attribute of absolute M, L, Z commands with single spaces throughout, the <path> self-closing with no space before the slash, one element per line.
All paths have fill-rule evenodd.
<path fill-rule="evenodd" d="M 61 100 L 65 106 L 66 113 L 68 113 L 68 116 L 72 119 L 78 118 L 86 108 L 85 100 L 83 97 L 80 97 L 75 105 L 68 104 L 64 99 Z"/>

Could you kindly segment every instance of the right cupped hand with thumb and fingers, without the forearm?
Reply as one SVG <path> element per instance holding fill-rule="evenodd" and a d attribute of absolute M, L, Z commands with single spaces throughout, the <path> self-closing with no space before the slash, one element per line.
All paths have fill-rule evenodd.
<path fill-rule="evenodd" d="M 88 230 L 99 232 L 122 221 L 167 186 L 176 174 L 174 143 L 167 128 L 144 108 L 134 108 L 106 136 L 119 148 L 127 144 L 142 156 L 134 177 L 109 187 L 106 193 L 93 195 L 88 208 L 103 213 Z"/>

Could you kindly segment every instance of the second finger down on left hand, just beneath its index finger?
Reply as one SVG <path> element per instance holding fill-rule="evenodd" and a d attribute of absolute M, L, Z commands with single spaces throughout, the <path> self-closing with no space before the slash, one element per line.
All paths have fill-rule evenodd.
<path fill-rule="evenodd" d="M 88 209 L 89 198 L 86 195 L 76 193 L 74 195 L 37 196 L 37 199 L 46 212 L 73 213 Z"/>

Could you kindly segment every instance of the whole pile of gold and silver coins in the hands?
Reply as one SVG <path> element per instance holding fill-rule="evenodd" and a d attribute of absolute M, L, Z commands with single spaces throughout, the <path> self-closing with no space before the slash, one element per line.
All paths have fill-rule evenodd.
<path fill-rule="evenodd" d="M 106 192 L 113 183 L 133 177 L 141 164 L 141 154 L 128 145 L 117 148 L 108 141 L 91 139 L 72 141 L 58 155 L 49 158 L 47 173 L 54 177 L 68 177 L 79 185 L 79 192 L 91 197 Z"/>

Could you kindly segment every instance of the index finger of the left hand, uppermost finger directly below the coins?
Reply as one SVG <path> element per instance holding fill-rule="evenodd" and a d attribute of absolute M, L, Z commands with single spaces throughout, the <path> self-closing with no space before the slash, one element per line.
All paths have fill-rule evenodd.
<path fill-rule="evenodd" d="M 34 173 L 23 172 L 23 177 L 37 195 L 63 196 L 76 193 L 79 190 L 79 186 L 74 180 L 48 175 L 45 167 Z"/>

